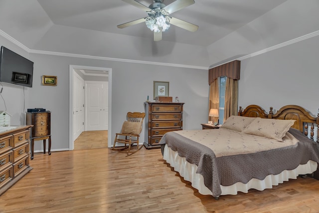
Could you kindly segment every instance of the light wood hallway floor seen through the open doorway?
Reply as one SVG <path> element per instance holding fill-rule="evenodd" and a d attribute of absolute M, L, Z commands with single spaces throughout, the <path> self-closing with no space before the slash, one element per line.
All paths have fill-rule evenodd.
<path fill-rule="evenodd" d="M 74 141 L 74 150 L 108 147 L 108 131 L 85 131 Z"/>

